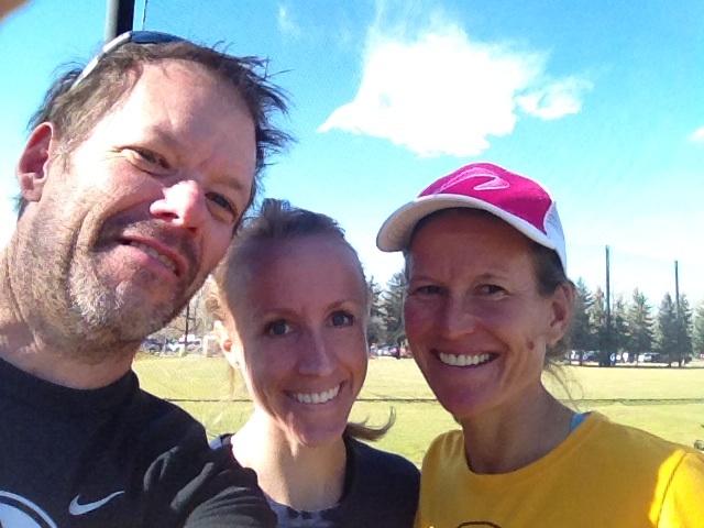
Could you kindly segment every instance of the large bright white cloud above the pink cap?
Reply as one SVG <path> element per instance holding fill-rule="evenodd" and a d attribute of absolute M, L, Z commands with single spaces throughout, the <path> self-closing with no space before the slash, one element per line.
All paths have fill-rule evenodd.
<path fill-rule="evenodd" d="M 358 92 L 320 132 L 383 138 L 421 156 L 475 156 L 490 136 L 514 131 L 517 109 L 559 119 L 579 112 L 592 86 L 576 76 L 550 79 L 546 54 L 471 41 L 452 23 L 397 35 L 370 31 Z"/>

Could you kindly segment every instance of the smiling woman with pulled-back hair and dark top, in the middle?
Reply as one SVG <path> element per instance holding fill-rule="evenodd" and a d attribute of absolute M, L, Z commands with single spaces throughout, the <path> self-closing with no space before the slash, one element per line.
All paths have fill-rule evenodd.
<path fill-rule="evenodd" d="M 370 295 L 337 223 L 264 201 L 218 267 L 210 307 L 254 411 L 227 441 L 279 527 L 410 527 L 418 470 L 348 417 L 367 364 Z"/>

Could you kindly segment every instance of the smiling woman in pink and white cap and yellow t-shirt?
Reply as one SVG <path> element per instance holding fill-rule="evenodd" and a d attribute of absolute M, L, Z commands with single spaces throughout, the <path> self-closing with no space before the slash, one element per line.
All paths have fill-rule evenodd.
<path fill-rule="evenodd" d="M 576 414 L 542 384 L 574 286 L 539 184 L 468 165 L 394 212 L 377 245 L 404 252 L 408 341 L 462 427 L 426 454 L 416 527 L 704 526 L 701 453 Z"/>

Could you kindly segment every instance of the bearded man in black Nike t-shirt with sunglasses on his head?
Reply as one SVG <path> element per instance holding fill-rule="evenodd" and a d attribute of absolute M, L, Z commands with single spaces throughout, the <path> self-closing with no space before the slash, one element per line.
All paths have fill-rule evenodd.
<path fill-rule="evenodd" d="M 0 253 L 0 526 L 273 526 L 254 473 L 131 370 L 286 140 L 261 66 L 125 33 L 32 119 Z"/>

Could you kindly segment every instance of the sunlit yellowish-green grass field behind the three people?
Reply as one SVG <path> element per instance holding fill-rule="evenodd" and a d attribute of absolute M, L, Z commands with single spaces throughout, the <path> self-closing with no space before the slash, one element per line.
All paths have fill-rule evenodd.
<path fill-rule="evenodd" d="M 223 359 L 142 356 L 135 370 L 143 388 L 180 405 L 205 424 L 211 437 L 237 430 L 251 411 L 241 383 L 231 396 Z M 704 439 L 704 369 L 569 366 L 562 377 L 560 384 L 546 375 L 546 383 L 580 410 L 598 410 L 686 446 Z M 411 360 L 371 361 L 352 419 L 382 425 L 392 407 L 396 424 L 377 443 L 416 463 L 438 433 L 458 427 L 435 400 Z"/>

